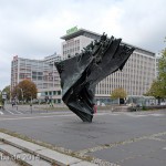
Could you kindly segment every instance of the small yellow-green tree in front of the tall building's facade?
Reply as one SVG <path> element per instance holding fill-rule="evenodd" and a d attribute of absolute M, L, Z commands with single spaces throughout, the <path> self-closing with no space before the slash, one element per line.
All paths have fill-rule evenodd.
<path fill-rule="evenodd" d="M 124 89 L 122 87 L 118 87 L 118 89 L 115 89 L 112 94 L 111 94 L 111 98 L 113 100 L 121 100 L 121 98 L 125 98 L 127 96 L 127 93 Z M 120 102 L 120 101 L 118 101 Z M 118 103 L 120 104 L 120 103 Z"/>

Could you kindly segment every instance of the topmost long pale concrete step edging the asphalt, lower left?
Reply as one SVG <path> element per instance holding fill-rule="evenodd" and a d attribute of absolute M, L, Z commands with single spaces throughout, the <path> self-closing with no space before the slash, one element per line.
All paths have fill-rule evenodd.
<path fill-rule="evenodd" d="M 0 132 L 0 141 L 2 143 L 6 143 L 8 145 L 11 145 L 13 147 L 17 147 L 24 153 L 29 153 L 33 156 L 38 156 L 43 160 L 46 160 L 50 163 L 50 165 L 58 165 L 58 166 L 97 166 L 96 164 L 72 157 L 59 152 L 55 152 L 53 149 L 46 148 L 41 145 L 37 145 L 34 143 L 30 143 L 27 141 L 23 141 L 18 137 L 13 137 L 11 135 L 4 134 Z M 0 147 L 0 151 L 3 152 L 3 149 Z M 10 152 L 9 152 L 10 153 Z M 10 153 L 9 155 L 13 156 L 13 153 Z M 17 153 L 15 153 L 17 155 Z M 27 163 L 27 160 L 22 162 Z M 27 163 L 30 165 L 29 163 Z M 37 164 L 34 164 L 37 165 Z"/>

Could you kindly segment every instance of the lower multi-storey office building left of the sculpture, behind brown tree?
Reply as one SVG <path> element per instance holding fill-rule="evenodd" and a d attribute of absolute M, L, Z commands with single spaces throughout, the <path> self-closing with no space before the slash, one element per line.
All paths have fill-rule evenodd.
<path fill-rule="evenodd" d="M 54 62 L 61 60 L 60 55 L 53 54 L 43 60 L 30 60 L 13 56 L 11 62 L 11 91 L 22 80 L 31 80 L 35 83 L 39 98 L 49 96 L 52 102 L 61 103 L 60 77 Z"/>

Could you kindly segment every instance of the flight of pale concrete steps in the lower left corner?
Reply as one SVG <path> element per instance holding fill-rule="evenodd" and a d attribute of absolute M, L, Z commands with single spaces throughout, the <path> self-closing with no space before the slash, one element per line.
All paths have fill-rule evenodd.
<path fill-rule="evenodd" d="M 32 166 L 95 166 L 95 164 L 90 162 L 49 149 L 44 146 L 4 133 L 0 133 L 0 151 L 10 156 L 4 157 L 1 155 L 1 163 L 4 163 L 6 158 L 7 163 L 10 160 L 21 160 L 23 164 Z"/>

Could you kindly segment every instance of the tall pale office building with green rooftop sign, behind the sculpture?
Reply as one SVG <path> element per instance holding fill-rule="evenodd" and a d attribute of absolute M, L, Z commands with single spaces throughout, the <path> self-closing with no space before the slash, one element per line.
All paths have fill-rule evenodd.
<path fill-rule="evenodd" d="M 76 29 L 74 32 L 61 37 L 65 40 L 62 42 L 63 59 L 80 53 L 83 48 L 90 42 L 98 40 L 100 37 L 101 34 L 85 29 Z M 117 87 L 123 87 L 127 95 L 132 96 L 143 95 L 151 87 L 155 79 L 155 53 L 138 46 L 135 48 L 122 72 L 117 71 L 97 84 L 95 93 L 97 100 L 110 101 L 112 91 Z"/>

